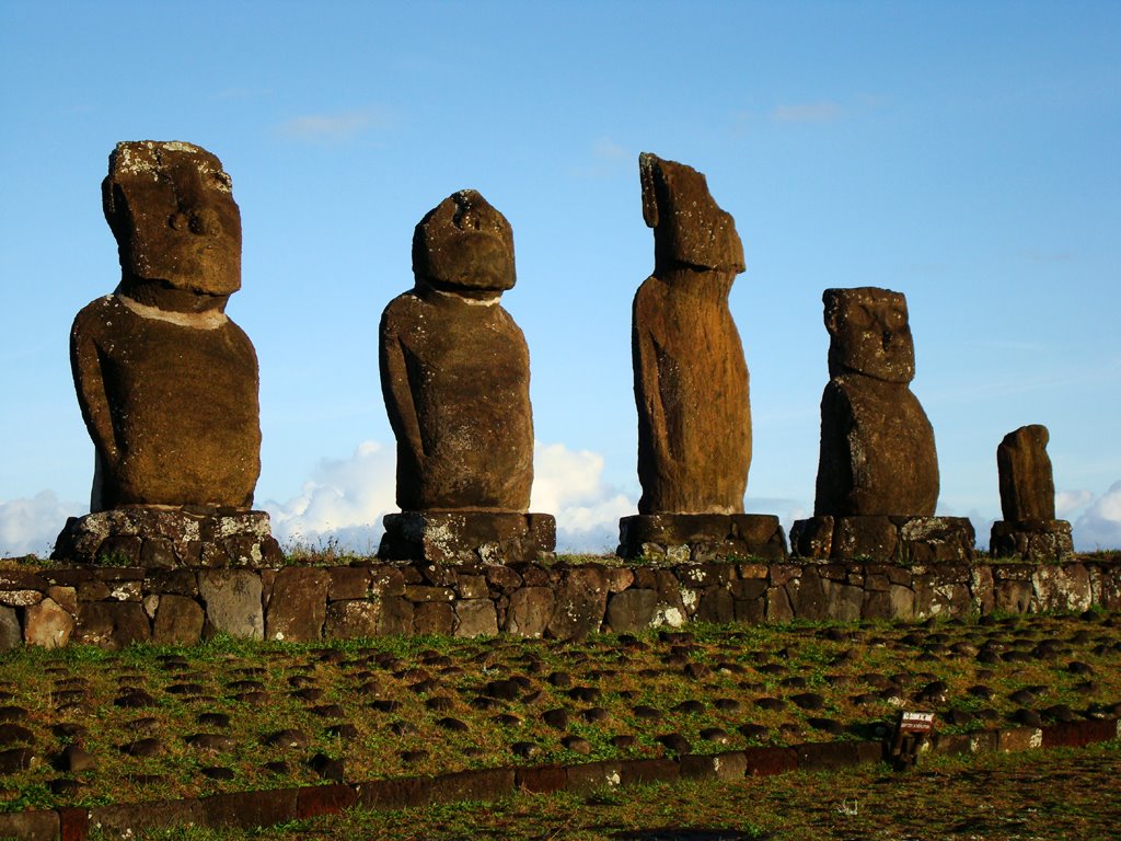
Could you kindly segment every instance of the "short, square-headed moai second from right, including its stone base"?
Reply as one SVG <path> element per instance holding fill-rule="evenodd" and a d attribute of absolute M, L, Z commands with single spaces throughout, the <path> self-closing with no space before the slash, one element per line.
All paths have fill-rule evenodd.
<path fill-rule="evenodd" d="M 935 517 L 934 429 L 910 390 L 915 343 L 907 299 L 865 286 L 826 289 L 830 381 L 814 517 L 791 530 L 808 557 L 904 561 L 972 557 L 967 518 Z"/>

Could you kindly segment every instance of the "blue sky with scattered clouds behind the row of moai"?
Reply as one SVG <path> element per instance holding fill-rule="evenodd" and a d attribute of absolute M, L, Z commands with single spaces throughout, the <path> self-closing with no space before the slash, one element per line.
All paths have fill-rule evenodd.
<path fill-rule="evenodd" d="M 907 295 L 939 512 L 999 517 L 995 447 L 1050 428 L 1063 516 L 1121 545 L 1121 4 L 0 4 L 0 554 L 83 512 L 74 314 L 113 289 L 100 182 L 119 140 L 233 177 L 261 367 L 257 502 L 287 539 L 376 545 L 392 509 L 381 309 L 419 219 L 474 187 L 510 220 L 503 305 L 532 363 L 535 508 L 613 547 L 633 510 L 638 154 L 704 172 L 748 270 L 748 509 L 812 509 L 821 294 Z"/>

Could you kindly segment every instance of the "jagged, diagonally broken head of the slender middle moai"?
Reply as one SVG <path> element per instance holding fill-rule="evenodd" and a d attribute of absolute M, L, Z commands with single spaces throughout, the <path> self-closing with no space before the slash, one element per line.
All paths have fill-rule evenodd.
<path fill-rule="evenodd" d="M 639 155 L 638 166 L 642 216 L 654 229 L 655 270 L 685 265 L 735 275 L 743 271 L 743 243 L 735 220 L 713 201 L 704 175 L 648 151 Z"/>

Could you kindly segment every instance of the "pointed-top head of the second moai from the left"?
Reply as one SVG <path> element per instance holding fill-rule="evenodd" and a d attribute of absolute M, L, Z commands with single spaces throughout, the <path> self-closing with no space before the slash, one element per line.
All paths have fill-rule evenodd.
<path fill-rule="evenodd" d="M 513 230 L 474 190 L 453 193 L 413 232 L 417 285 L 472 298 L 513 288 Z"/>

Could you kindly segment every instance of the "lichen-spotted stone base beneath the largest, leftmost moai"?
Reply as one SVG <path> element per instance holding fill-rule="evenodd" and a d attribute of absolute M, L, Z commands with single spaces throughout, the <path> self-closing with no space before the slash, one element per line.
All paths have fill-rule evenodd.
<path fill-rule="evenodd" d="M 279 566 L 265 511 L 129 506 L 71 517 L 50 557 L 98 566 Z"/>

